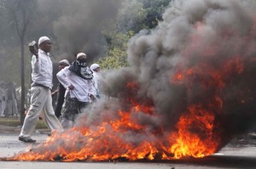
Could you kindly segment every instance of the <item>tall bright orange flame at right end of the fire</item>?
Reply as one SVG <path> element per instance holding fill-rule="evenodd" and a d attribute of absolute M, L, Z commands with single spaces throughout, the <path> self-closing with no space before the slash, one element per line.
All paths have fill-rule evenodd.
<path fill-rule="evenodd" d="M 172 144 L 171 152 L 174 158 L 180 159 L 186 156 L 201 158 L 212 155 L 218 147 L 218 140 L 212 138 L 214 115 L 211 112 L 202 110 L 200 106 L 191 105 L 189 114 L 182 115 L 177 123 L 177 141 Z M 193 133 L 201 130 L 203 137 Z M 190 131 L 191 130 L 191 131 Z M 198 132 L 198 131 L 197 131 Z"/>

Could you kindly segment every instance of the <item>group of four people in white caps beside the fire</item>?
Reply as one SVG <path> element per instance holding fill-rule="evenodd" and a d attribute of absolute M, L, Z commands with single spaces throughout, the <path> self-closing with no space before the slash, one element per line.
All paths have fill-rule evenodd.
<path fill-rule="evenodd" d="M 57 91 L 51 93 L 53 87 L 53 66 L 49 52 L 51 42 L 49 37 L 40 37 L 38 51 L 32 55 L 32 87 L 31 105 L 20 131 L 19 140 L 34 143 L 32 133 L 38 123 L 39 116 L 51 132 L 73 127 L 76 117 L 84 113 L 85 108 L 99 99 L 100 66 L 87 65 L 87 55 L 79 53 L 70 65 L 67 59 L 59 62 Z M 55 110 L 52 105 L 52 94 L 58 93 Z"/>

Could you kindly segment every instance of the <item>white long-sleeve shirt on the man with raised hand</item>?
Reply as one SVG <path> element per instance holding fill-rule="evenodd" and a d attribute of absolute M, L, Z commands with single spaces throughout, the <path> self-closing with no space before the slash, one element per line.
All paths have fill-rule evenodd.
<path fill-rule="evenodd" d="M 53 67 L 49 54 L 43 50 L 38 50 L 38 59 L 32 55 L 32 86 L 40 84 L 44 87 L 52 88 Z"/>

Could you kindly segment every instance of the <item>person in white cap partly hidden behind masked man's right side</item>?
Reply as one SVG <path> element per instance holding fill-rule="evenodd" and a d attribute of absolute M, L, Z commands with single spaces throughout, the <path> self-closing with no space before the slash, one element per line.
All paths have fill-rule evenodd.
<path fill-rule="evenodd" d="M 102 76 L 100 74 L 101 67 L 98 64 L 92 64 L 90 65 L 90 70 L 93 72 L 93 85 L 95 87 L 96 99 L 100 99 L 102 97 L 100 91 L 100 81 L 102 81 Z"/>

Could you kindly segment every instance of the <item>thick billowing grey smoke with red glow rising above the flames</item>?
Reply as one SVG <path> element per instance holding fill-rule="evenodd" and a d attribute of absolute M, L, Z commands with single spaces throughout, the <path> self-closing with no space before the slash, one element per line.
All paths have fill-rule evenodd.
<path fill-rule="evenodd" d="M 157 29 L 131 38 L 131 67 L 107 74 L 108 93 L 124 93 L 127 82 L 137 82 L 139 89 L 133 97 L 150 99 L 158 115 L 148 126 L 163 126 L 165 131 L 172 131 L 193 104 L 212 109 L 215 132 L 221 132 L 224 143 L 252 131 L 256 120 L 255 5 L 253 1 L 173 1 Z M 233 63 L 229 68 L 228 60 L 241 60 L 241 65 Z M 193 73 L 179 84 L 172 81 L 178 72 L 191 69 Z M 221 99 L 219 110 L 209 105 L 216 97 Z"/>

